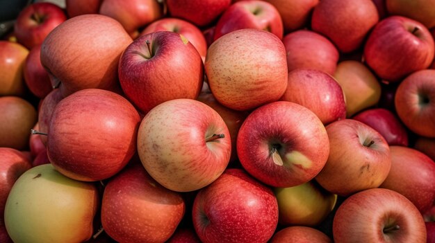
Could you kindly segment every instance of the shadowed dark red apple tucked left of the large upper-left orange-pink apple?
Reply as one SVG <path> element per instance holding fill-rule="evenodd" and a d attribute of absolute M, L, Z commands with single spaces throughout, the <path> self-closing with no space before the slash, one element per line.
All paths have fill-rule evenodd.
<path fill-rule="evenodd" d="M 44 98 L 52 90 L 53 86 L 49 74 L 41 64 L 41 45 L 35 45 L 28 52 L 23 66 L 24 81 L 26 87 L 38 98 Z"/>

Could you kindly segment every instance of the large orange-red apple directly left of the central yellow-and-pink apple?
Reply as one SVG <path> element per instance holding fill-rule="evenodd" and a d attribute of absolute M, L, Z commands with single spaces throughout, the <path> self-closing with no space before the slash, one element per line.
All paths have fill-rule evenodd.
<path fill-rule="evenodd" d="M 124 97 L 83 89 L 58 102 L 49 124 L 47 153 L 60 173 L 79 181 L 108 179 L 136 152 L 140 116 Z"/>

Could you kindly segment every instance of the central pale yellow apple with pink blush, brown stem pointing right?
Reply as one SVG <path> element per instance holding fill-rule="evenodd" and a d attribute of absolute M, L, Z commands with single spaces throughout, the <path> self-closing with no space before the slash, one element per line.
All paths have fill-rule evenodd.
<path fill-rule="evenodd" d="M 162 186 L 189 192 L 207 186 L 224 172 L 231 138 L 222 117 L 208 105 L 191 99 L 168 100 L 142 119 L 138 154 Z"/>

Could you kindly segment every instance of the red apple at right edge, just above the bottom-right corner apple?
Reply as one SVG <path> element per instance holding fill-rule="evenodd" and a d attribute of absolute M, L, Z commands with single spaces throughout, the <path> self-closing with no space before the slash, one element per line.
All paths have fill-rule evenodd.
<path fill-rule="evenodd" d="M 411 147 L 390 150 L 391 170 L 380 187 L 399 192 L 425 213 L 435 203 L 435 162 Z"/>

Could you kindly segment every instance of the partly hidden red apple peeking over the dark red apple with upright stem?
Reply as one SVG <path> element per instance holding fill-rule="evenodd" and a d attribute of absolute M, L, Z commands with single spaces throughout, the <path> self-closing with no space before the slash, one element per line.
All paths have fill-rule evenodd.
<path fill-rule="evenodd" d="M 140 35 L 146 35 L 157 31 L 172 31 L 183 35 L 183 37 L 186 37 L 186 39 L 195 46 L 199 55 L 201 55 L 202 60 L 205 60 L 207 53 L 206 38 L 201 30 L 194 24 L 183 19 L 166 17 L 149 24 L 144 28 L 144 30 L 142 30 Z"/>

